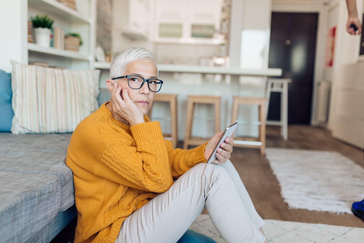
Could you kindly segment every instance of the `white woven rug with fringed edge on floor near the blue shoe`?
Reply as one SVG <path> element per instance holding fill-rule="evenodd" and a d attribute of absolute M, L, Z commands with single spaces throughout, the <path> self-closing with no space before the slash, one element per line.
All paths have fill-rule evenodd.
<path fill-rule="evenodd" d="M 352 213 L 364 198 L 364 169 L 337 152 L 267 148 L 266 156 L 292 209 Z"/>

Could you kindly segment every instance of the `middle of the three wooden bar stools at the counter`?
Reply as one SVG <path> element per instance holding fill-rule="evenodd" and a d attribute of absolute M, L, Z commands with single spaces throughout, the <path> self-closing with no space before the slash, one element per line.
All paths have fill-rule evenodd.
<path fill-rule="evenodd" d="M 220 101 L 221 96 L 207 95 L 187 95 L 187 115 L 185 141 L 183 141 L 183 149 L 187 149 L 189 145 L 201 145 L 210 138 L 199 138 L 192 136 L 192 126 L 194 120 L 195 104 L 212 104 L 215 107 L 215 133 L 220 131 Z M 202 118 L 201 118 L 202 119 Z"/>

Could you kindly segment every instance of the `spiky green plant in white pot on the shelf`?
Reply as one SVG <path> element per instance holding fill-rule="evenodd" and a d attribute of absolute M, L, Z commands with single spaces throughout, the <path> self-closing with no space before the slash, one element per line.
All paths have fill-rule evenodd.
<path fill-rule="evenodd" d="M 31 16 L 30 20 L 34 28 L 35 43 L 40 46 L 49 47 L 53 20 L 47 14 Z"/>

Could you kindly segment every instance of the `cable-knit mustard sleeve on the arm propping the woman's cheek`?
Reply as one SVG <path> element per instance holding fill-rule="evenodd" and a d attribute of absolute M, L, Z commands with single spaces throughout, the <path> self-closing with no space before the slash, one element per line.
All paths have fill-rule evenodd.
<path fill-rule="evenodd" d="M 167 191 L 173 179 L 159 122 L 134 125 L 131 133 L 134 140 L 128 139 L 127 134 L 108 134 L 101 160 L 116 174 L 108 170 L 99 173 L 127 187 L 157 193 Z"/>

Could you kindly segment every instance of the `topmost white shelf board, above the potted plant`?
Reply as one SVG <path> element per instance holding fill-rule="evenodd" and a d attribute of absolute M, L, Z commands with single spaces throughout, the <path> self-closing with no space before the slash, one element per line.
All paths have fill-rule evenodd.
<path fill-rule="evenodd" d="M 91 23 L 91 20 L 72 8 L 56 0 L 28 0 L 28 5 L 46 11 L 48 15 L 68 19 L 74 23 Z"/>

